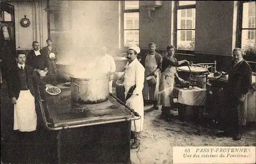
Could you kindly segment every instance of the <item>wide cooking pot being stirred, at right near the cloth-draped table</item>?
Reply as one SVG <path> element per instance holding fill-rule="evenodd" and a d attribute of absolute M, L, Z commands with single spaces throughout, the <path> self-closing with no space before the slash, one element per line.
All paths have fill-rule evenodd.
<path fill-rule="evenodd" d="M 189 70 L 190 68 L 190 70 Z M 189 81 L 189 74 L 192 74 L 195 78 L 195 83 L 200 86 L 201 88 L 206 88 L 206 83 L 207 83 L 207 75 L 209 70 L 207 68 L 199 67 L 199 66 L 182 66 L 177 68 L 179 71 L 179 76 L 181 78 Z M 190 72 L 191 71 L 191 72 Z M 181 75 L 180 75 L 181 74 Z"/>

